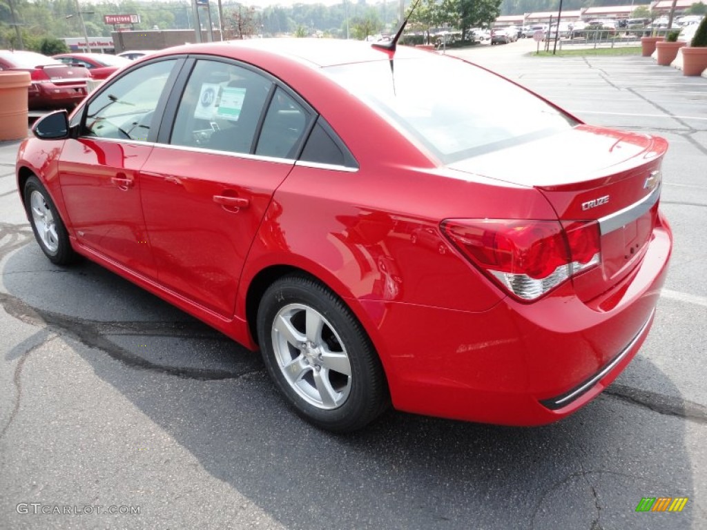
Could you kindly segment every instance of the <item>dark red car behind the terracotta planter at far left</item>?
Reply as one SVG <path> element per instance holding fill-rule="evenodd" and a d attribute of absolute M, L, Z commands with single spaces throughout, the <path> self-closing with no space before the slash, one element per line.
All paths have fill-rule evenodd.
<path fill-rule="evenodd" d="M 83 66 L 69 66 L 42 54 L 18 50 L 0 50 L 0 70 L 30 73 L 30 109 L 74 107 L 86 96 L 86 80 L 90 78 Z"/>

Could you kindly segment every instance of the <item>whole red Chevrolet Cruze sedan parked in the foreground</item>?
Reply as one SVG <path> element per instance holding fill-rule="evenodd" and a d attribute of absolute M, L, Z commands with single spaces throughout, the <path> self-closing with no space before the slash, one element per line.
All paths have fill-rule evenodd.
<path fill-rule="evenodd" d="M 665 140 L 408 47 L 168 49 L 34 133 L 18 189 L 50 260 L 81 254 L 259 349 L 339 432 L 391 404 L 568 416 L 636 355 L 670 257 Z"/>

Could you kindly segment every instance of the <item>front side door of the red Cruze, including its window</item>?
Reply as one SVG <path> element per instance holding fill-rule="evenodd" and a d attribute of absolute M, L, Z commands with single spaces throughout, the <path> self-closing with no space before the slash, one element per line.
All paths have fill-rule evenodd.
<path fill-rule="evenodd" d="M 78 137 L 64 143 L 59 182 L 80 245 L 156 278 L 138 172 L 152 151 L 153 118 L 166 101 L 177 59 L 129 71 L 93 97 Z"/>

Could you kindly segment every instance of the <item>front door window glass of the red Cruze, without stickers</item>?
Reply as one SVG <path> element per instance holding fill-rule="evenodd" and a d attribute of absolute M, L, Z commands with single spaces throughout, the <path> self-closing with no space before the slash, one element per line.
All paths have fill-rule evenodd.
<path fill-rule="evenodd" d="M 153 115 L 176 61 L 159 61 L 110 83 L 86 110 L 84 136 L 146 141 Z"/>

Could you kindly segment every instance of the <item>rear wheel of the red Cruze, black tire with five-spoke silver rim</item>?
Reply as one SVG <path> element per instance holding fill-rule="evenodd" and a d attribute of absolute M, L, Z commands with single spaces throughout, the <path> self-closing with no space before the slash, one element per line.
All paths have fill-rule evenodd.
<path fill-rule="evenodd" d="M 351 432 L 390 406 L 385 374 L 368 335 L 349 307 L 321 283 L 300 275 L 275 281 L 260 301 L 257 330 L 270 377 L 313 425 Z"/>

